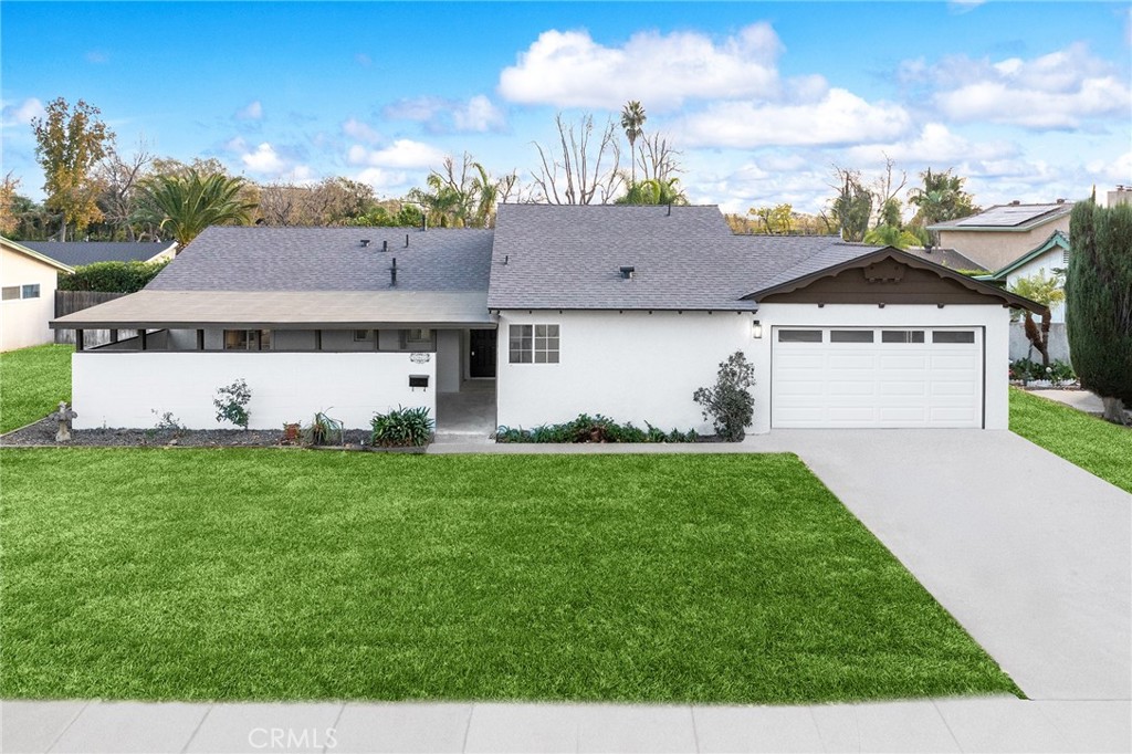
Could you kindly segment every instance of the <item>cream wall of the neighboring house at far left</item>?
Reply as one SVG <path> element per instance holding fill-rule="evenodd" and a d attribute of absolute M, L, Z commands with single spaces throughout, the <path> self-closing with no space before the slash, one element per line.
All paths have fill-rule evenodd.
<path fill-rule="evenodd" d="M 48 323 L 55 316 L 59 271 L 8 248 L 0 250 L 0 285 L 40 285 L 35 299 L 0 301 L 0 351 L 53 343 Z"/>

